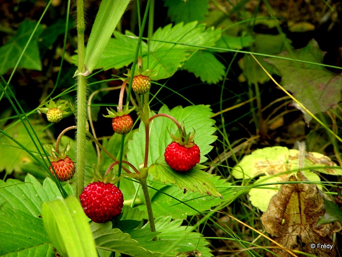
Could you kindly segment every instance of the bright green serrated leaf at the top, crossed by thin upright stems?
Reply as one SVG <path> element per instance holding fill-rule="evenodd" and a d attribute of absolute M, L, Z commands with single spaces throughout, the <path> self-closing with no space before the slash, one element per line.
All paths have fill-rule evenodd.
<path fill-rule="evenodd" d="M 114 33 L 96 66 L 97 69 L 122 68 L 133 62 L 137 37 L 129 31 L 126 35 Z M 141 57 L 144 69 L 153 70 L 153 80 L 168 78 L 187 60 L 192 51 L 201 47 L 214 46 L 220 38 L 221 30 L 206 28 L 204 24 L 178 23 L 158 28 L 150 41 L 150 48 L 141 42 Z M 191 46 L 189 46 L 191 45 Z"/>

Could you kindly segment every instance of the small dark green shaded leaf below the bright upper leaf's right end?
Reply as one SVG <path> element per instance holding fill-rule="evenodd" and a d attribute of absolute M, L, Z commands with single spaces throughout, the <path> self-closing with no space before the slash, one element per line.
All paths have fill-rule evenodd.
<path fill-rule="evenodd" d="M 182 66 L 184 70 L 192 72 L 203 82 L 216 84 L 222 80 L 225 73 L 225 66 L 220 63 L 213 53 L 198 51 L 194 53 Z"/>

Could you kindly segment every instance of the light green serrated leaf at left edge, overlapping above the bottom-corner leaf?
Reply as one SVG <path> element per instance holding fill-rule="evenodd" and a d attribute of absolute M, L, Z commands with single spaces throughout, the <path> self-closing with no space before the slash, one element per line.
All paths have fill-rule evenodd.
<path fill-rule="evenodd" d="M 62 197 L 56 184 L 46 178 L 42 184 L 27 174 L 25 181 L 8 179 L 6 182 L 0 180 L 0 206 L 20 210 L 34 217 L 42 214 L 44 201 L 51 201 Z"/>

